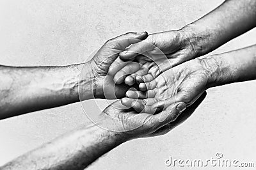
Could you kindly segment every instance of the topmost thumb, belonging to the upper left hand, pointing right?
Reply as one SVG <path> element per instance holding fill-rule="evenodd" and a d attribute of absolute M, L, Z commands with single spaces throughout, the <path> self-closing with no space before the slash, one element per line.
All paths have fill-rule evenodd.
<path fill-rule="evenodd" d="M 126 47 L 131 45 L 132 43 L 138 43 L 142 40 L 145 40 L 147 38 L 148 33 L 147 32 L 141 32 L 141 33 L 126 33 L 124 35 L 117 36 L 115 38 L 112 38 L 111 40 L 108 40 L 106 42 L 106 45 L 113 46 L 113 49 L 117 50 L 124 50 Z"/>

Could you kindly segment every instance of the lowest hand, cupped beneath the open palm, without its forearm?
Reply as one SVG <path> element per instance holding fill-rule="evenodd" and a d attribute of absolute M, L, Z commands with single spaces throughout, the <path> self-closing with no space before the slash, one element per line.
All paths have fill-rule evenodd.
<path fill-rule="evenodd" d="M 173 122 L 184 109 L 186 109 L 186 104 L 177 102 L 158 114 L 153 115 L 147 112 L 138 114 L 133 109 L 122 105 L 120 100 L 118 100 L 109 105 L 102 114 L 100 114 L 100 119 L 103 121 L 99 121 L 100 124 L 98 125 L 106 130 L 121 134 L 127 140 L 138 137 L 152 137 L 154 135 L 163 134 L 163 131 L 166 133 L 167 128 L 171 129 L 169 124 Z M 175 125 L 172 127 L 175 127 Z"/>

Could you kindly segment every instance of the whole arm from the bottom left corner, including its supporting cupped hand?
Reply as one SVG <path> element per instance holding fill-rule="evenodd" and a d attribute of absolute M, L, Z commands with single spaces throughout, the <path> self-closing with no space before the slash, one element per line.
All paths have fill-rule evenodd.
<path fill-rule="evenodd" d="M 184 112 L 184 117 L 188 118 L 198 105 L 199 103 Z M 0 169 L 84 169 L 125 141 L 169 132 L 186 120 L 183 118 L 174 121 L 184 109 L 186 105 L 177 102 L 155 115 L 138 114 L 117 101 L 100 114 L 99 119 L 95 121 L 97 123 L 63 135 L 16 158 Z"/>

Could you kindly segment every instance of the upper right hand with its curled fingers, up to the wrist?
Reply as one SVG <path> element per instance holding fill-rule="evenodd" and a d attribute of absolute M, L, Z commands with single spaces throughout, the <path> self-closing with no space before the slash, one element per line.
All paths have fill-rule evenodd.
<path fill-rule="evenodd" d="M 116 72 L 114 81 L 116 84 L 125 81 L 125 84 L 132 85 L 136 81 L 136 75 L 149 74 L 151 77 L 157 77 L 161 72 L 173 66 L 196 58 L 198 52 L 190 43 L 189 37 L 191 36 L 190 31 L 182 29 L 148 35 L 142 42 L 135 43 L 120 53 L 120 59 L 123 61 L 118 59 L 111 65 L 110 72 L 117 67 L 115 71 L 112 71 Z M 138 63 L 124 63 L 127 59 L 135 59 L 134 61 Z M 123 67 L 120 63 L 123 63 Z M 161 68 L 159 68 L 160 65 Z M 148 72 L 148 68 L 159 72 Z"/>

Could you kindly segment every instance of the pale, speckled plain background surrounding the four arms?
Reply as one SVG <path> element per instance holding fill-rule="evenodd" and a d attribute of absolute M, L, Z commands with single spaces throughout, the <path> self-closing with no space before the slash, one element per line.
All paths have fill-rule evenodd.
<path fill-rule="evenodd" d="M 79 63 L 109 38 L 127 31 L 179 29 L 222 2 L 1 0 L 0 64 Z M 212 53 L 255 44 L 255 37 L 253 29 Z M 251 81 L 209 89 L 204 102 L 184 124 L 161 137 L 122 144 L 89 169 L 168 169 L 164 160 L 170 156 L 208 159 L 216 158 L 216 152 L 223 153 L 223 158 L 255 162 L 256 166 L 255 87 Z M 83 105 L 89 107 L 89 103 Z M 104 101 L 99 104 L 106 106 Z M 81 104 L 1 120 L 0 164 L 83 123 L 89 121 Z"/>

